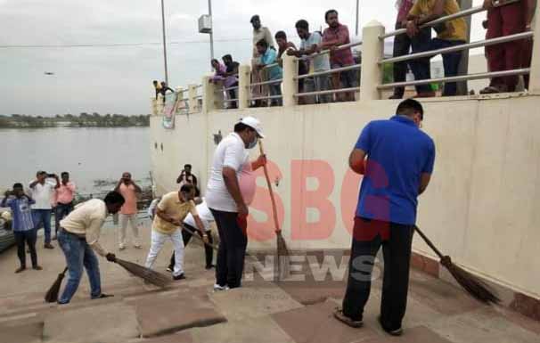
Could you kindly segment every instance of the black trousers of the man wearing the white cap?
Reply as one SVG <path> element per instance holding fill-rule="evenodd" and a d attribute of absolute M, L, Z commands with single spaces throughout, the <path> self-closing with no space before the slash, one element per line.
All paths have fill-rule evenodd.
<path fill-rule="evenodd" d="M 210 208 L 219 233 L 216 283 L 229 288 L 241 287 L 241 274 L 248 247 L 248 236 L 238 223 L 238 213 Z"/>

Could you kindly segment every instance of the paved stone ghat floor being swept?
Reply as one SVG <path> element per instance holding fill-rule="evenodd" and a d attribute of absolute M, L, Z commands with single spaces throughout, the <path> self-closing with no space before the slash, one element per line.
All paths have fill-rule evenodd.
<path fill-rule="evenodd" d="M 121 258 L 143 264 L 150 243 L 149 223 L 141 225 L 143 249 L 116 251 L 112 225 L 103 230 L 105 247 Z M 56 245 L 56 243 L 54 242 Z M 334 279 L 319 257 L 297 257 L 300 281 L 269 282 L 263 257 L 248 257 L 246 270 L 261 270 L 243 288 L 212 292 L 213 271 L 206 271 L 199 244 L 186 249 L 187 279 L 157 290 L 130 276 L 119 265 L 100 259 L 102 289 L 113 298 L 89 300 L 86 275 L 68 306 L 45 304 L 45 291 L 64 267 L 61 250 L 42 249 L 43 271 L 13 274 L 15 249 L 0 255 L 0 342 L 540 342 L 540 323 L 498 306 L 484 306 L 462 290 L 412 271 L 405 334 L 393 338 L 380 330 L 380 281 L 373 282 L 364 312 L 364 328 L 351 329 L 333 319 L 345 282 Z M 155 268 L 165 272 L 172 247 L 163 249 Z M 254 268 L 255 266 L 255 268 Z M 300 276 L 298 276 L 300 275 Z M 266 280 L 265 280 L 266 278 Z M 303 281 L 301 279 L 304 279 Z M 65 283 L 65 281 L 64 281 Z"/>

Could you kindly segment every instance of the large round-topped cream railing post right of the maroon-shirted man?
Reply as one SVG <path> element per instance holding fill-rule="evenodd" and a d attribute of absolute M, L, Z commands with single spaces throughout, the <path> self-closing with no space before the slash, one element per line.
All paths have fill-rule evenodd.
<path fill-rule="evenodd" d="M 362 73 L 360 74 L 360 99 L 379 100 L 380 91 L 377 88 L 382 83 L 382 65 L 379 61 L 384 57 L 384 26 L 372 20 L 362 29 Z"/>

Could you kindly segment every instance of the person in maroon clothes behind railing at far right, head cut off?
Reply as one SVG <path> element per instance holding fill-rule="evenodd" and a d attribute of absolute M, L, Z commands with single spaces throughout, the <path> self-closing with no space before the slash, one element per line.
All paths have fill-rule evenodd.
<path fill-rule="evenodd" d="M 524 32 L 526 25 L 530 29 L 536 0 L 484 0 L 487 9 L 487 39 L 515 35 Z M 530 8 L 530 12 L 529 12 Z M 529 15 L 528 15 L 529 14 Z M 519 69 L 528 62 L 527 41 L 514 40 L 498 45 L 486 46 L 487 65 L 489 71 L 503 71 Z M 494 94 L 501 92 L 514 92 L 519 77 L 510 75 L 501 78 L 492 78 L 489 86 L 482 89 L 480 94 Z M 526 78 L 528 86 L 528 78 Z"/>

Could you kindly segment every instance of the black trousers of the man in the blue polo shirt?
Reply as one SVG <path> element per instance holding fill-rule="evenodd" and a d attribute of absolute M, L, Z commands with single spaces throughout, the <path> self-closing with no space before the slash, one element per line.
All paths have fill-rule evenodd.
<path fill-rule="evenodd" d="M 362 220 L 364 223 L 376 222 L 364 218 Z M 372 285 L 373 261 L 382 246 L 384 275 L 380 319 L 385 329 L 397 330 L 401 327 L 407 305 L 413 225 L 387 225 L 389 239 L 383 240 L 378 233 L 371 241 L 357 240 L 362 234 L 355 231 L 364 228 L 355 225 L 343 314 L 356 321 L 362 320 Z"/>

